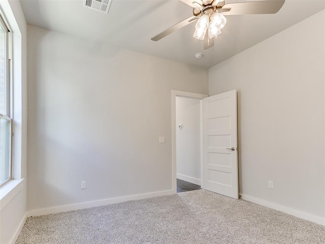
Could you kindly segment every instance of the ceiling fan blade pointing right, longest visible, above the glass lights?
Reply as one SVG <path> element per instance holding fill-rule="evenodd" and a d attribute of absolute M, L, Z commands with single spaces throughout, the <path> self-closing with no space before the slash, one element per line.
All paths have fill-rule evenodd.
<path fill-rule="evenodd" d="M 226 4 L 223 8 L 230 8 L 231 11 L 223 15 L 241 15 L 241 14 L 275 14 L 283 6 L 285 0 L 268 0 L 256 2 L 243 2 Z"/>

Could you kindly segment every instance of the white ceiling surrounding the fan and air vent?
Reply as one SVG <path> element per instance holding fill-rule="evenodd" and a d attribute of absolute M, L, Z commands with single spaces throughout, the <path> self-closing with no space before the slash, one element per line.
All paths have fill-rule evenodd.
<path fill-rule="evenodd" d="M 276 14 L 226 16 L 227 23 L 215 46 L 203 50 L 203 41 L 192 37 L 194 23 L 158 42 L 151 41 L 192 15 L 192 8 L 179 0 L 113 0 L 109 14 L 82 7 L 82 0 L 20 2 L 28 24 L 206 68 L 325 9 L 325 0 L 286 0 Z M 199 52 L 204 56 L 198 60 L 194 54 Z"/>

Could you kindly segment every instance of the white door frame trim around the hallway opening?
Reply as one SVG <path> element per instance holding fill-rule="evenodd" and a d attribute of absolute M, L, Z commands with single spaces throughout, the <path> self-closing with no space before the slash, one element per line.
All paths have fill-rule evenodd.
<path fill-rule="evenodd" d="M 203 188 L 203 103 L 202 99 L 209 97 L 206 94 L 172 90 L 172 191 L 177 193 L 177 168 L 176 168 L 176 97 L 191 98 L 200 100 L 200 164 L 201 164 L 201 188 Z"/>

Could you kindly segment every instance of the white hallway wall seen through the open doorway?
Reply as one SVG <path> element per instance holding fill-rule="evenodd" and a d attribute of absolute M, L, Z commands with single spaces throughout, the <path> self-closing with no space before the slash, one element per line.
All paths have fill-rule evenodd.
<path fill-rule="evenodd" d="M 200 99 L 176 97 L 177 178 L 201 186 Z M 178 129 L 178 125 L 182 129 Z"/>

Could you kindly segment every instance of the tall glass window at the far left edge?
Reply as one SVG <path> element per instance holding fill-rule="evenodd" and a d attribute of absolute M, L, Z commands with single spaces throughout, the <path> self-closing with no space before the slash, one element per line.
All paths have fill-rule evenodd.
<path fill-rule="evenodd" d="M 11 85 L 9 31 L 0 18 L 0 186 L 11 179 Z"/>

